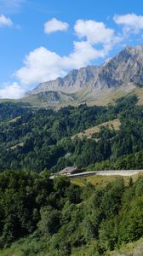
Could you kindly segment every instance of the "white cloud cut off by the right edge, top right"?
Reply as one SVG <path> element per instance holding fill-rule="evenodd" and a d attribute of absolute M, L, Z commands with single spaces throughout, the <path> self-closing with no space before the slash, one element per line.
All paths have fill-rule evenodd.
<path fill-rule="evenodd" d="M 123 25 L 124 32 L 138 33 L 143 29 L 142 15 L 114 15 L 113 20 L 117 23 L 117 25 Z"/>

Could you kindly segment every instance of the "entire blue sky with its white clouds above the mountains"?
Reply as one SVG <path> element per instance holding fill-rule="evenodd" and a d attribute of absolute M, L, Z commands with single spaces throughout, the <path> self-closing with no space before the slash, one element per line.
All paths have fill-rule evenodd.
<path fill-rule="evenodd" d="M 142 0 L 0 0 L 0 97 L 143 44 Z"/>

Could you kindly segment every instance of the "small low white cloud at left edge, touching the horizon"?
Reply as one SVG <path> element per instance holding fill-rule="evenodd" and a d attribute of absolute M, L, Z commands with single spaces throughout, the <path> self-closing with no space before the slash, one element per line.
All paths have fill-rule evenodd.
<path fill-rule="evenodd" d="M 0 98 L 7 99 L 19 99 L 24 96 L 24 89 L 16 82 L 12 84 L 3 84 L 3 88 L 0 89 Z"/>

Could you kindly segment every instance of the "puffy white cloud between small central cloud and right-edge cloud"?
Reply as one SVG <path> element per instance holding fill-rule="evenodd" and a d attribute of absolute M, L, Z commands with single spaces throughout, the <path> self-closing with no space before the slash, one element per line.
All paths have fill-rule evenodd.
<path fill-rule="evenodd" d="M 74 29 L 79 38 L 87 38 L 90 44 L 108 44 L 114 36 L 113 29 L 95 20 L 77 20 Z"/>

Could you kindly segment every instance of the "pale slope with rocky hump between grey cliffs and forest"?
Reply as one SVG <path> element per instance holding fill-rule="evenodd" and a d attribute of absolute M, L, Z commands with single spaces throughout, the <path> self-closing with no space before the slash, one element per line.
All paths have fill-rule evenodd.
<path fill-rule="evenodd" d="M 18 102 L 25 102 L 26 104 L 30 105 L 31 108 L 59 109 L 69 105 L 78 106 L 84 103 L 86 103 L 88 106 L 107 106 L 109 103 L 113 103 L 116 99 L 126 95 L 138 96 L 138 104 L 142 105 L 143 88 L 133 88 L 132 86 L 128 86 L 128 88 L 121 86 L 117 89 L 97 89 L 94 91 L 80 90 L 77 93 L 71 94 L 60 91 L 46 91 L 32 96 L 26 96 Z M 3 102 L 3 100 L 0 102 Z"/>

